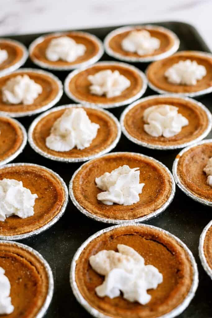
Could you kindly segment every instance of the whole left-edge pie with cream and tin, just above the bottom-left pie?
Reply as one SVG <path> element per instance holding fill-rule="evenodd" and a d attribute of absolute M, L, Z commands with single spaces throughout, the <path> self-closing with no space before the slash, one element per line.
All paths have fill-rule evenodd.
<path fill-rule="evenodd" d="M 10 206 L 9 210 L 1 209 L 1 239 L 24 239 L 43 232 L 65 212 L 66 185 L 50 169 L 30 163 L 7 164 L 0 168 L 0 186 L 1 200 L 5 207 Z M 14 197 L 7 193 L 14 193 Z M 19 197 L 20 202 L 16 202 Z"/>

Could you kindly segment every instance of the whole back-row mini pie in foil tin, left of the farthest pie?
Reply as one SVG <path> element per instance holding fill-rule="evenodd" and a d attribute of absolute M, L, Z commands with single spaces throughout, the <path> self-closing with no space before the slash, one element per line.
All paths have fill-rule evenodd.
<path fill-rule="evenodd" d="M 31 60 L 38 66 L 62 71 L 97 62 L 104 48 L 95 35 L 72 31 L 41 36 L 31 43 L 29 52 Z"/>

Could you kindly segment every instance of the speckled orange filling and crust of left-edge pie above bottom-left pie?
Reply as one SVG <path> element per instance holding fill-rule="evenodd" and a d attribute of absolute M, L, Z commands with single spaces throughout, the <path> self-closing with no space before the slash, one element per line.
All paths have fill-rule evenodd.
<path fill-rule="evenodd" d="M 4 178 L 22 181 L 32 194 L 37 194 L 34 215 L 29 218 L 10 216 L 0 221 L 0 235 L 17 235 L 34 231 L 51 221 L 64 203 L 64 189 L 51 172 L 36 166 L 15 166 L 0 169 L 0 180 Z"/>

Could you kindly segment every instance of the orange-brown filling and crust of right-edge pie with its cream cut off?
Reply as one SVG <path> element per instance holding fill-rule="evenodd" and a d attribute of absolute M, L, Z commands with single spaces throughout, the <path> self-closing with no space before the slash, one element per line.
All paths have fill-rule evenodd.
<path fill-rule="evenodd" d="M 184 152 L 177 166 L 181 183 L 193 194 L 208 201 L 212 201 L 212 188 L 206 183 L 207 175 L 203 169 L 210 157 L 212 143 L 202 144 Z"/>

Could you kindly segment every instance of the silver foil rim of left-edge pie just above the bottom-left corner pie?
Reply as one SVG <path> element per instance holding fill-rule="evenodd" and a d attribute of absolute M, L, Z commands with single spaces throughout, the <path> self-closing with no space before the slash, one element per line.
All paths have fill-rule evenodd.
<path fill-rule="evenodd" d="M 41 166 L 39 164 L 35 164 L 35 163 L 9 163 L 6 164 L 4 166 L 0 166 L 0 171 L 1 169 L 4 168 L 9 168 L 9 167 L 17 167 L 17 166 L 32 166 L 32 167 L 38 167 L 38 168 L 42 168 L 44 170 L 47 170 L 48 172 L 50 172 L 51 174 L 53 174 L 58 181 L 61 183 L 61 186 L 64 190 L 64 202 L 63 205 L 60 208 L 60 211 L 58 212 L 58 214 L 51 219 L 51 221 L 49 221 L 47 224 L 41 226 L 40 228 L 33 230 L 31 232 L 27 232 L 27 233 L 23 233 L 23 234 L 17 234 L 17 235 L 0 235 L 0 243 L 1 240 L 7 240 L 7 241 L 11 241 L 11 240 L 22 240 L 22 239 L 27 239 L 30 238 L 32 236 L 38 235 L 46 230 L 48 230 L 52 225 L 54 225 L 56 222 L 58 222 L 58 220 L 62 217 L 62 215 L 65 212 L 66 206 L 68 204 L 68 189 L 67 186 L 64 182 L 64 180 L 61 178 L 61 176 L 59 176 L 56 172 L 54 172 L 53 170 L 46 168 L 44 166 Z M 0 221 L 1 222 L 1 221 Z"/>

